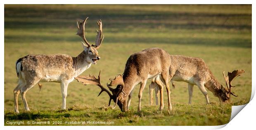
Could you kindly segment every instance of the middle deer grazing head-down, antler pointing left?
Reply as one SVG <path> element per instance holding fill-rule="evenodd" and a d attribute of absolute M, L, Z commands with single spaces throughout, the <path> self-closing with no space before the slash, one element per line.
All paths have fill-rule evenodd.
<path fill-rule="evenodd" d="M 146 86 L 147 79 L 154 78 L 157 84 L 161 83 L 161 79 L 164 82 L 168 94 L 168 112 L 171 111 L 171 98 L 170 98 L 170 88 L 168 85 L 168 77 L 169 77 L 169 67 L 170 67 L 171 59 L 169 53 L 164 51 L 164 49 L 160 48 L 149 48 L 138 53 L 132 54 L 125 65 L 125 69 L 123 74 L 118 74 L 114 79 L 109 79 L 111 82 L 107 84 L 109 91 L 106 88 L 103 88 L 100 85 L 99 81 L 96 82 L 94 77 L 76 77 L 83 84 L 93 84 L 100 86 L 102 91 L 106 91 L 108 93 L 109 105 L 110 107 L 111 100 L 114 100 L 115 105 L 112 107 L 113 109 L 118 104 L 121 111 L 128 111 L 130 107 L 130 102 L 133 94 L 133 88 L 140 84 L 140 91 L 138 94 L 139 105 L 138 111 L 141 111 L 141 99 L 142 99 L 142 91 Z M 87 80 L 86 80 L 87 79 Z M 99 75 L 100 79 L 100 75 Z M 88 81 L 89 80 L 89 81 Z M 116 88 L 111 88 L 111 86 L 116 86 Z M 164 100 L 163 100 L 163 87 L 159 86 L 161 103 L 159 110 L 163 110 L 164 108 Z M 112 92 L 112 94 L 110 93 Z M 100 95 L 99 94 L 99 95 Z M 98 96 L 99 96 L 98 95 Z"/>

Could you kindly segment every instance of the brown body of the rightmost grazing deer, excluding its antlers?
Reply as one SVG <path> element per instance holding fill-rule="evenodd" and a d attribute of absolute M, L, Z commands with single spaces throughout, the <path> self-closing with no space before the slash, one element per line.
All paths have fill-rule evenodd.
<path fill-rule="evenodd" d="M 170 57 L 171 66 L 169 69 L 169 80 L 185 81 L 191 86 L 199 86 L 202 93 L 206 96 L 206 102 L 208 96 L 204 87 L 208 88 L 216 97 L 220 98 L 221 101 L 225 102 L 229 100 L 230 96 L 228 95 L 228 91 L 216 80 L 204 60 L 202 60 L 201 58 L 192 58 L 177 55 L 170 55 Z M 158 91 L 158 88 L 154 84 L 154 80 L 152 80 L 150 89 L 154 88 L 156 88 L 156 91 Z M 150 95 L 152 94 L 150 93 Z M 192 97 L 192 93 L 190 96 Z M 191 103 L 191 97 L 189 103 Z M 152 100 L 152 97 L 150 97 L 150 99 Z"/>

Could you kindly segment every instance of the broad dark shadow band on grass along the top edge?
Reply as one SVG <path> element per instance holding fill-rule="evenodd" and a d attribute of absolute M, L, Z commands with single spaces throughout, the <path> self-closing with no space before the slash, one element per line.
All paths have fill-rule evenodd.
<path fill-rule="evenodd" d="M 47 7 L 47 5 L 45 6 Z M 58 6 L 61 7 L 61 6 Z M 79 18 L 104 19 L 104 28 L 226 28 L 251 30 L 251 14 L 157 12 L 147 10 L 5 7 L 5 28 L 68 28 Z M 26 19 L 28 18 L 28 19 Z M 243 22 L 237 19 L 243 19 Z M 228 21 L 228 22 L 227 22 Z M 171 23 L 174 22 L 174 23 Z M 182 24 L 181 24 L 182 23 Z M 92 22 L 88 25 L 91 26 Z M 95 25 L 95 23 L 93 23 Z"/>

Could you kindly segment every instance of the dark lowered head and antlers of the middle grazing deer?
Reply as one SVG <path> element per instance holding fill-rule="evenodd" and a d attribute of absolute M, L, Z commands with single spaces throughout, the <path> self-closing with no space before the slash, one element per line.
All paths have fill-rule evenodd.
<path fill-rule="evenodd" d="M 100 71 L 101 72 L 101 71 Z M 121 92 L 123 92 L 123 88 L 111 88 L 109 87 L 109 84 L 107 84 L 107 87 L 109 88 L 109 90 L 112 92 L 112 94 L 106 89 L 104 88 L 101 84 L 100 84 L 100 73 L 99 73 L 99 76 L 98 76 L 98 79 L 95 77 L 95 76 L 78 76 L 78 77 L 75 77 L 75 79 L 78 81 L 78 82 L 82 82 L 83 85 L 88 85 L 88 84 L 92 84 L 92 85 L 97 85 L 101 88 L 101 91 L 99 93 L 98 96 L 100 96 L 100 94 L 102 92 L 106 92 L 108 95 L 109 95 L 109 104 L 107 107 L 110 107 L 110 104 L 111 104 L 111 100 L 114 100 L 115 102 L 115 105 L 114 107 L 111 107 L 112 109 L 116 108 L 116 104 L 118 102 L 118 97 L 119 97 L 119 94 Z M 116 82 L 113 82 L 113 84 L 115 84 Z M 111 84 L 111 83 L 110 83 Z M 124 92 L 123 92 L 124 93 Z M 103 106 L 104 107 L 104 106 Z M 104 107 L 106 108 L 106 107 Z"/>

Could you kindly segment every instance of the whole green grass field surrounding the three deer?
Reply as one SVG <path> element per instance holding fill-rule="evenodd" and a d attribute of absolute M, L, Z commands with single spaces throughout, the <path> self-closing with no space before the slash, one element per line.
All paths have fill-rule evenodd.
<path fill-rule="evenodd" d="M 173 55 L 204 59 L 216 79 L 225 84 L 222 71 L 244 69 L 233 81 L 231 104 L 221 104 L 208 91 L 211 104 L 194 86 L 188 105 L 187 83 L 175 82 L 171 89 L 173 110 L 168 115 L 159 106 L 149 105 L 149 83 L 143 92 L 142 112 L 137 112 L 139 85 L 135 87 L 131 110 L 104 109 L 108 95 L 97 94 L 97 86 L 69 84 L 67 110 L 63 111 L 60 85 L 43 83 L 26 94 L 31 111 L 14 113 L 13 89 L 17 85 L 15 62 L 28 54 L 64 53 L 77 56 L 83 50 L 76 34 L 76 21 L 89 17 L 86 37 L 95 41 L 97 20 L 102 19 L 105 35 L 101 60 L 81 75 L 97 75 L 102 84 L 123 73 L 128 57 L 150 47 L 163 48 Z M 5 5 L 5 125 L 6 121 L 114 121 L 111 125 L 223 125 L 228 123 L 232 105 L 251 97 L 251 5 Z M 166 91 L 164 103 L 167 105 Z M 24 124 L 36 125 L 36 124 Z M 85 124 L 102 125 L 102 124 Z M 104 125 L 104 124 L 103 124 Z"/>

